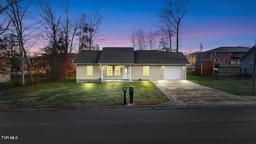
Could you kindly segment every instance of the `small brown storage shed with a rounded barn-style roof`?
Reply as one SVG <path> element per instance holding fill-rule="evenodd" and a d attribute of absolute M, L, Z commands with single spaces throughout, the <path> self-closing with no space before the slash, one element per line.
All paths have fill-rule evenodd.
<path fill-rule="evenodd" d="M 195 74 L 198 75 L 213 75 L 214 63 L 209 59 L 198 60 L 195 63 Z"/>

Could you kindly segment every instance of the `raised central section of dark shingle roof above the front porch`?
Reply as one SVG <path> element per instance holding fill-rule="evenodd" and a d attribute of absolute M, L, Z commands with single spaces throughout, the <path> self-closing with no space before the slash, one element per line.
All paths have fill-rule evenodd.
<path fill-rule="evenodd" d="M 98 64 L 134 64 L 134 49 L 103 48 Z"/>

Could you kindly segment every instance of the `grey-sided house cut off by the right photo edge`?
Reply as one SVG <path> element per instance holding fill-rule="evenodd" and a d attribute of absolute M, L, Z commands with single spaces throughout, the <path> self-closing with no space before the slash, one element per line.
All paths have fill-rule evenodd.
<path fill-rule="evenodd" d="M 253 61 L 255 54 L 255 46 L 252 46 L 239 61 L 241 63 L 241 74 L 253 74 Z"/>

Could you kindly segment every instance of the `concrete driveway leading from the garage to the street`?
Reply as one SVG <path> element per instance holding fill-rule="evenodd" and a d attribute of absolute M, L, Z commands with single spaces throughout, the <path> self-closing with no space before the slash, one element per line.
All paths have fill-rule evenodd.
<path fill-rule="evenodd" d="M 152 80 L 170 99 L 164 104 L 250 104 L 250 100 L 188 80 Z"/>

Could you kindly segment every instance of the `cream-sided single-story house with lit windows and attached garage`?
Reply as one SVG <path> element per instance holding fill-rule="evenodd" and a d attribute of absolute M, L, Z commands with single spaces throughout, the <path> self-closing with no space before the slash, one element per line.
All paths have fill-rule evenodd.
<path fill-rule="evenodd" d="M 134 48 L 103 48 L 80 51 L 76 64 L 76 82 L 96 80 L 186 80 L 188 60 L 181 52 Z"/>

